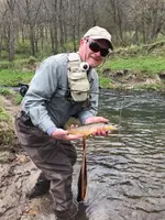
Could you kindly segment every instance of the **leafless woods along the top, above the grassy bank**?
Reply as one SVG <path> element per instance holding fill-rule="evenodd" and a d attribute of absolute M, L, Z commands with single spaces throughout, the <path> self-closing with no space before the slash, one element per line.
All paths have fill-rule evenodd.
<path fill-rule="evenodd" d="M 0 58 L 77 51 L 94 25 L 112 34 L 114 48 L 165 35 L 164 0 L 0 0 Z"/>

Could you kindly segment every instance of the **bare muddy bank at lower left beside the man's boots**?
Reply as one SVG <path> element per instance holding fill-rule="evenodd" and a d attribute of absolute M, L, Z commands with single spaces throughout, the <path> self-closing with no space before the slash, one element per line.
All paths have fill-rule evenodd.
<path fill-rule="evenodd" d="M 19 107 L 4 99 L 6 110 L 14 120 Z M 12 124 L 13 127 L 13 124 Z M 51 195 L 44 198 L 28 200 L 25 193 L 32 188 L 38 169 L 22 151 L 15 135 L 14 145 L 0 147 L 0 219 L 1 220 L 42 220 L 55 219 L 52 210 Z M 47 216 L 48 215 L 48 216 Z"/>

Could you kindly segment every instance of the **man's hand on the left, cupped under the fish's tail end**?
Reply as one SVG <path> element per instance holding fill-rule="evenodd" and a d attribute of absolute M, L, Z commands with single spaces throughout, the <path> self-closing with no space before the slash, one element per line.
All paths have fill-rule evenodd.
<path fill-rule="evenodd" d="M 82 138 L 82 135 L 79 134 L 68 134 L 68 131 L 65 131 L 63 129 L 56 129 L 54 132 L 52 132 L 51 136 L 53 139 L 65 140 L 65 141 L 72 141 Z"/>

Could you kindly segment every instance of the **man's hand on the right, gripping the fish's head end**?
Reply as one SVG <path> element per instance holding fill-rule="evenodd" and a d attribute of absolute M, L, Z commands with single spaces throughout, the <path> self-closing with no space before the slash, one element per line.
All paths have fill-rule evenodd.
<path fill-rule="evenodd" d="M 85 124 L 90 124 L 90 123 L 99 123 L 99 122 L 103 122 L 103 123 L 108 123 L 109 120 L 103 118 L 103 117 L 90 117 L 86 120 Z M 98 129 L 97 132 L 92 133 L 94 136 L 96 135 L 102 135 L 102 136 L 107 136 L 108 132 L 106 132 L 102 129 Z"/>

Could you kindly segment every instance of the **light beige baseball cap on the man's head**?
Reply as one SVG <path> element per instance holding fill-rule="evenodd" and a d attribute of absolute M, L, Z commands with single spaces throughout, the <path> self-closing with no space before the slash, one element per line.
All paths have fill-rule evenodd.
<path fill-rule="evenodd" d="M 87 31 L 84 37 L 90 37 L 94 40 L 105 38 L 108 41 L 109 47 L 113 51 L 113 45 L 111 42 L 111 34 L 103 28 L 100 26 L 92 26 Z"/>

